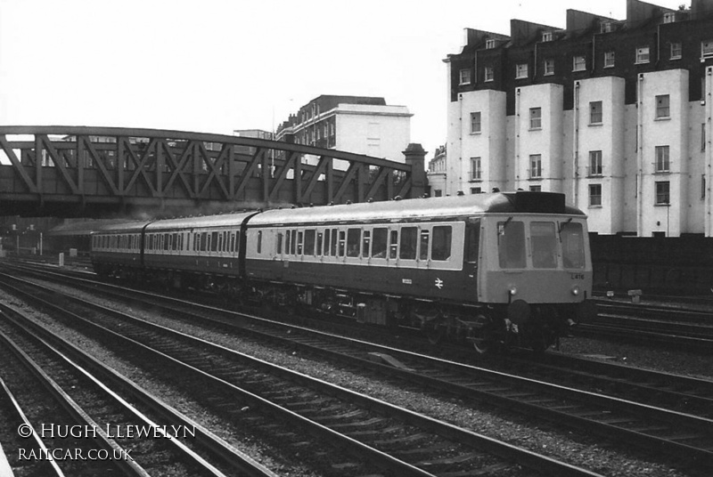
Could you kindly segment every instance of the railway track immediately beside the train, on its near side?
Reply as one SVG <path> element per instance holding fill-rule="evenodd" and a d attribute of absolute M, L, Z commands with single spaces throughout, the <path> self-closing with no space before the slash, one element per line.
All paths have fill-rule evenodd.
<path fill-rule="evenodd" d="M 165 306 L 165 303 L 170 302 L 162 297 L 153 297 L 152 300 L 155 300 L 152 306 L 157 306 L 159 302 L 162 303 L 161 306 Z M 178 316 L 187 312 L 190 318 L 186 319 L 193 322 L 201 318 L 196 316 L 200 306 L 192 305 L 190 311 L 186 310 L 188 306 L 187 303 L 182 303 L 176 308 L 174 304 L 171 314 Z M 203 312 L 205 313 L 205 309 Z M 212 315 L 217 312 L 215 309 L 209 310 Z M 228 320 L 235 321 L 234 313 L 226 315 Z M 244 327 L 244 323 L 242 326 Z M 711 457 L 711 421 L 704 414 L 688 414 L 692 412 L 691 408 L 710 408 L 713 390 L 710 389 L 709 382 L 697 382 L 676 376 L 677 387 L 672 387 L 674 376 L 648 373 L 642 378 L 645 374 L 643 372 L 627 375 L 630 368 L 608 368 L 603 363 L 597 365 L 591 361 L 590 368 L 583 369 L 582 365 L 573 367 L 572 360 L 563 358 L 557 363 L 554 358 L 547 363 L 530 363 L 526 374 L 533 376 L 533 373 L 539 373 L 543 381 L 537 381 L 444 360 L 433 360 L 415 353 L 355 340 L 325 336 L 297 327 L 283 326 L 282 331 L 275 331 L 275 326 L 277 325 L 270 324 L 266 330 L 260 329 L 261 339 L 270 335 L 271 339 L 283 340 L 288 347 L 299 344 L 309 352 L 329 354 L 332 360 L 347 361 L 349 365 L 361 368 L 372 368 L 374 372 L 406 378 L 431 389 L 447 390 L 469 400 L 484 400 L 503 408 L 517 409 L 530 416 L 548 418 L 558 424 L 598 433 L 612 441 L 628 441 L 643 448 L 668 452 L 673 457 L 684 452 L 694 459 L 690 463 L 693 466 L 701 465 Z M 240 333 L 244 335 L 249 330 L 250 334 L 258 334 L 254 322 L 249 329 L 242 328 Z M 305 336 L 299 337 L 298 334 Z M 372 361 L 395 357 L 400 360 L 400 366 L 403 368 L 393 368 Z M 564 364 L 566 362 L 570 364 Z M 616 390 L 622 398 L 545 383 L 552 376 L 557 376 L 560 382 L 582 383 L 594 390 Z M 703 384 L 708 385 L 708 388 L 701 387 Z M 691 388 L 697 392 L 691 392 Z M 657 396 L 655 400 L 654 396 Z M 641 404 L 627 398 L 648 401 L 649 404 Z M 680 410 L 671 410 L 676 409 L 673 404 L 680 403 L 684 403 L 683 407 L 678 407 Z"/>

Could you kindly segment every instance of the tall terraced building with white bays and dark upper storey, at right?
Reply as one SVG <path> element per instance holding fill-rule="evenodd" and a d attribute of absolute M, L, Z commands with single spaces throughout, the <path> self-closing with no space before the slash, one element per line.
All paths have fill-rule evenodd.
<path fill-rule="evenodd" d="M 443 195 L 557 191 L 602 234 L 713 236 L 713 0 L 511 29 L 446 60 Z"/>

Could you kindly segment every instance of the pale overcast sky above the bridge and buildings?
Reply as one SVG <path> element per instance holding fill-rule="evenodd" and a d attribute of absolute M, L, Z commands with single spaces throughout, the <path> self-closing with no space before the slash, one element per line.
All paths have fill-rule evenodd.
<path fill-rule="evenodd" d="M 677 8 L 690 0 L 659 0 Z M 617 20 L 627 0 L 0 0 L 0 124 L 230 134 L 273 130 L 321 94 L 406 106 L 446 142 L 446 64 L 463 28 Z"/>

